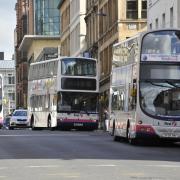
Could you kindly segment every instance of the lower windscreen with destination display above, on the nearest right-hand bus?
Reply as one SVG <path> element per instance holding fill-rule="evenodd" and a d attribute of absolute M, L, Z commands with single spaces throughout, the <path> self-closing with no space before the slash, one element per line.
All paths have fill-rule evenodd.
<path fill-rule="evenodd" d="M 140 103 L 157 116 L 179 116 L 180 75 L 177 65 L 141 65 Z"/>

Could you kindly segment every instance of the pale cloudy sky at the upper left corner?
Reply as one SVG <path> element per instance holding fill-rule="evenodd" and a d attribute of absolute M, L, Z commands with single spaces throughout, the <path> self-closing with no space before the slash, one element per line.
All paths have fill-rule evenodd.
<path fill-rule="evenodd" d="M 14 54 L 16 2 L 17 0 L 0 0 L 0 52 L 4 52 L 5 60 L 11 60 Z"/>

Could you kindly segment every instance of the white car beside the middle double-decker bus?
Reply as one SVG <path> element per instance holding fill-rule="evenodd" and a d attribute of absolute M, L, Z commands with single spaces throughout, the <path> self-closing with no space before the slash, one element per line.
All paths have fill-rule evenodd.
<path fill-rule="evenodd" d="M 25 128 L 28 127 L 28 125 L 27 109 L 15 110 L 10 118 L 9 129 Z"/>

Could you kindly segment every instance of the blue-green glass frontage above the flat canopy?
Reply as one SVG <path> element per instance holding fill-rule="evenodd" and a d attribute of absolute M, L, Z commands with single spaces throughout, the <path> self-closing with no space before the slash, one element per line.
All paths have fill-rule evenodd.
<path fill-rule="evenodd" d="M 35 0 L 35 34 L 59 35 L 59 0 Z"/>

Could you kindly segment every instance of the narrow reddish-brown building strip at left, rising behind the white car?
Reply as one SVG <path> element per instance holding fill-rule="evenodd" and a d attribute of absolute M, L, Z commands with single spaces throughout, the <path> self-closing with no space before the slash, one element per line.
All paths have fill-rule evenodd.
<path fill-rule="evenodd" d="M 28 63 L 26 53 L 19 51 L 19 45 L 27 34 L 27 0 L 17 0 L 15 30 L 16 107 L 26 107 Z"/>

